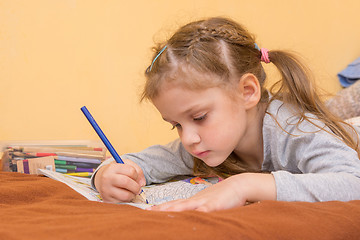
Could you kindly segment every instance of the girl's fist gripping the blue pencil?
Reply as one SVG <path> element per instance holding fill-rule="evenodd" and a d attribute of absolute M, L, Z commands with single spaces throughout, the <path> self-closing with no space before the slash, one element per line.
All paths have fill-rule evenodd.
<path fill-rule="evenodd" d="M 124 163 L 110 163 L 97 171 L 94 184 L 104 202 L 129 202 L 146 185 L 142 169 L 130 160 Z"/>

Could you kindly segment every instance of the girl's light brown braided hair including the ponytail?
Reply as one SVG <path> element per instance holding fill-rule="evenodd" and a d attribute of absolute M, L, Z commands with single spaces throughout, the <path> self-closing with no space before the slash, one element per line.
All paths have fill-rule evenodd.
<path fill-rule="evenodd" d="M 180 84 L 191 89 L 215 86 L 232 89 L 236 84 L 234 79 L 239 79 L 245 73 L 254 74 L 261 86 L 260 102 L 270 103 L 268 91 L 264 87 L 266 74 L 260 62 L 261 53 L 255 48 L 255 38 L 243 26 L 230 19 L 209 18 L 186 24 L 168 41 L 158 44 L 154 50 L 151 68 L 145 73 L 147 81 L 141 100 L 151 101 L 159 94 L 165 81 L 177 81 L 177 76 L 191 71 L 217 76 L 196 80 L 181 78 Z M 299 123 L 304 120 L 313 123 L 305 114 L 314 114 L 360 156 L 358 141 L 347 130 L 350 126 L 324 106 L 314 90 L 309 71 L 298 58 L 285 51 L 269 51 L 269 58 L 282 76 L 270 89 L 270 101 L 279 99 L 294 105 L 300 116 Z M 209 167 L 196 158 L 194 162 L 194 172 L 201 176 L 216 174 L 226 177 L 259 171 L 246 166 L 235 154 L 231 154 L 217 167 Z"/>

